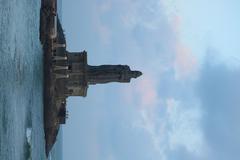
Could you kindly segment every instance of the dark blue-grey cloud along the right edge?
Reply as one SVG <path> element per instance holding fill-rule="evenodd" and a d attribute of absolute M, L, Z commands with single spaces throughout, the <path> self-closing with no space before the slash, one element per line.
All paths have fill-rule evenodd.
<path fill-rule="evenodd" d="M 240 69 L 217 61 L 217 55 L 218 52 L 208 50 L 197 85 L 205 113 L 203 129 L 211 151 L 208 159 L 236 159 L 240 156 L 240 129 L 237 127 Z"/>

